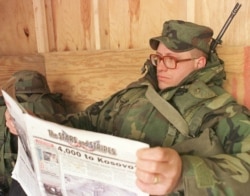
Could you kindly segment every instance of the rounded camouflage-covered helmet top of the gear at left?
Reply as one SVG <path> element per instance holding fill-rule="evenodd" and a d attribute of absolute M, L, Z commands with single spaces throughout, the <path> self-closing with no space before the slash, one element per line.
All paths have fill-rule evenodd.
<path fill-rule="evenodd" d="M 22 70 L 13 74 L 18 93 L 50 93 L 46 78 L 37 71 Z"/>

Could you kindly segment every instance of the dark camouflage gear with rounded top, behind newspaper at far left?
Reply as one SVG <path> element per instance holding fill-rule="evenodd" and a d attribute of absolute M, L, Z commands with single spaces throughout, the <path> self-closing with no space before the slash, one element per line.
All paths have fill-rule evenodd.
<path fill-rule="evenodd" d="M 24 108 L 34 114 L 66 113 L 62 95 L 51 93 L 46 78 L 37 71 L 18 71 L 4 84 L 3 88 L 5 87 Z M 4 99 L 0 96 L 0 196 L 8 192 L 12 183 L 11 173 L 17 158 L 17 137 L 5 126 L 5 110 Z M 26 146 L 25 137 L 20 139 Z M 27 154 L 29 155 L 29 151 Z M 18 183 L 14 181 L 14 184 L 15 193 L 22 195 Z"/>

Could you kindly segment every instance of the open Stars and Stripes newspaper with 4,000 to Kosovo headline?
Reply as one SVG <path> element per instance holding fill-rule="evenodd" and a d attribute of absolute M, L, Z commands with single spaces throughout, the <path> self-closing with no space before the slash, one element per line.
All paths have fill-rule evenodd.
<path fill-rule="evenodd" d="M 39 119 L 2 94 L 19 135 L 12 176 L 27 195 L 148 195 L 135 184 L 135 153 L 148 144 Z"/>

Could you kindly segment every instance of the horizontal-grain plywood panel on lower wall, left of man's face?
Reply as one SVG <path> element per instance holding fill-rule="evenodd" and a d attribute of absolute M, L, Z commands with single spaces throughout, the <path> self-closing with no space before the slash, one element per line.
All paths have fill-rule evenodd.
<path fill-rule="evenodd" d="M 62 92 L 70 111 L 108 97 L 141 76 L 151 50 L 84 51 L 45 54 L 49 86 Z"/>

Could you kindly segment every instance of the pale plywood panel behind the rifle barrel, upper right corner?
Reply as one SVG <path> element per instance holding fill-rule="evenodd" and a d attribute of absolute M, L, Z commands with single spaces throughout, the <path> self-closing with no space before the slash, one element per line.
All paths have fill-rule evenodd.
<path fill-rule="evenodd" d="M 233 18 L 222 41 L 226 45 L 249 45 L 249 0 L 195 0 L 195 22 L 210 26 L 216 38 L 237 2 L 241 4 L 241 8 Z"/>

